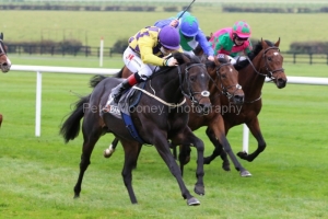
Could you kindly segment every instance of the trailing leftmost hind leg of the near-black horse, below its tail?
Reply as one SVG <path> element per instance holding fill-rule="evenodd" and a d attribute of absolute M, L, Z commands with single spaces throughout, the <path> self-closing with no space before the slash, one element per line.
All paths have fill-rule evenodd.
<path fill-rule="evenodd" d="M 92 120 L 92 124 L 97 124 L 96 122 Z M 94 125 L 95 126 L 95 125 Z M 78 182 L 74 186 L 74 198 L 80 197 L 81 185 L 84 172 L 86 171 L 90 164 L 90 157 L 93 151 L 93 148 L 97 140 L 102 135 L 102 127 L 92 127 L 92 125 L 87 125 L 87 118 L 83 120 L 83 148 L 81 154 L 81 162 L 80 162 L 80 174 L 78 177 Z"/>

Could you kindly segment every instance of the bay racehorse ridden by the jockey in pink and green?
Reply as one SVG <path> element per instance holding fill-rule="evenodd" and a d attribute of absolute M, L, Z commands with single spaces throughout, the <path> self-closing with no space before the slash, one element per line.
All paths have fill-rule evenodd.
<path fill-rule="evenodd" d="M 279 49 L 280 38 L 276 44 L 269 41 L 260 41 L 255 45 L 253 53 L 248 56 L 248 60 L 237 64 L 236 69 L 239 71 L 239 84 L 245 92 L 245 101 L 239 114 L 227 112 L 223 114 L 225 135 L 229 130 L 237 125 L 246 124 L 251 135 L 258 142 L 257 149 L 247 154 L 245 151 L 241 151 L 237 155 L 241 159 L 251 162 L 259 153 L 261 153 L 267 143 L 260 130 L 258 114 L 261 111 L 261 90 L 265 83 L 266 77 L 274 82 L 278 89 L 283 89 L 286 85 L 286 76 L 284 73 L 283 57 Z M 221 104 L 229 105 L 229 102 L 221 96 Z M 213 130 L 208 130 L 209 134 Z M 204 164 L 209 164 L 218 155 L 221 155 L 225 170 L 230 170 L 229 160 L 226 153 L 222 150 L 222 146 L 215 140 L 214 135 L 210 134 L 210 140 L 215 145 L 214 151 L 210 157 L 204 158 Z"/>

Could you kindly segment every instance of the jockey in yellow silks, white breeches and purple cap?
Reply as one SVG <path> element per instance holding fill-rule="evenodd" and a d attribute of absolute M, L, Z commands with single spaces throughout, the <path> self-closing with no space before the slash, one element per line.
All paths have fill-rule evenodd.
<path fill-rule="evenodd" d="M 133 74 L 112 89 L 105 108 L 113 100 L 115 103 L 118 103 L 125 90 L 145 81 L 154 71 L 159 70 L 157 66 L 177 66 L 177 60 L 168 55 L 176 50 L 183 51 L 179 44 L 179 34 L 172 26 L 163 28 L 148 26 L 139 31 L 134 36 L 131 36 L 129 46 L 124 51 L 122 59 L 126 67 Z"/>

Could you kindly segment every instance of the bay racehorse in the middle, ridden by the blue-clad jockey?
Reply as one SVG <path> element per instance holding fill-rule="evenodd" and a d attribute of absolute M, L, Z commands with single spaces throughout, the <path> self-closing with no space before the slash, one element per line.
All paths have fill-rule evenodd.
<path fill-rule="evenodd" d="M 201 56 L 201 58 L 203 57 L 204 56 Z M 204 62 L 206 59 L 202 61 Z M 232 149 L 225 137 L 224 123 L 221 115 L 222 111 L 224 111 L 221 107 L 221 99 L 225 99 L 229 103 L 234 102 L 236 104 L 233 106 L 233 111 L 235 113 L 238 112 L 238 104 L 242 104 L 244 101 L 244 92 L 242 87 L 238 84 L 238 72 L 235 70 L 232 64 L 229 62 L 226 56 L 215 59 L 214 62 L 206 61 L 206 64 L 208 73 L 213 79 L 213 81 L 210 83 L 210 100 L 212 103 L 212 108 L 209 114 L 203 116 L 199 116 L 196 111 L 188 111 L 188 126 L 191 128 L 191 130 L 196 130 L 202 126 L 207 126 L 209 127 L 208 129 L 214 130 L 215 138 L 218 138 L 216 141 L 220 141 L 225 151 L 227 151 L 230 158 L 236 166 L 236 170 L 239 171 L 242 176 L 250 176 L 251 174 L 244 166 L 242 166 L 234 153 L 231 152 Z M 128 70 L 128 68 L 124 68 L 116 77 L 127 78 L 130 74 L 131 72 Z M 192 108 L 192 103 L 190 101 L 187 101 L 187 106 Z M 239 108 L 241 107 L 242 106 L 239 106 Z M 118 140 L 115 139 L 112 145 L 109 145 L 109 148 L 104 151 L 105 158 L 108 158 L 113 154 L 117 143 Z M 171 143 L 171 148 L 173 148 L 176 157 L 176 145 Z M 190 160 L 189 153 L 190 147 L 188 145 L 180 147 L 179 163 L 181 173 L 184 172 L 184 165 Z"/>

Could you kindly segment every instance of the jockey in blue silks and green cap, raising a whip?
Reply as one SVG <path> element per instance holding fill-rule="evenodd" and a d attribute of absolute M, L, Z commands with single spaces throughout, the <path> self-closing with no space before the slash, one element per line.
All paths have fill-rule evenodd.
<path fill-rule="evenodd" d="M 198 20 L 189 12 L 185 12 L 183 16 L 178 19 L 181 13 L 184 12 L 179 12 L 175 18 L 160 20 L 154 25 L 159 27 L 167 25 L 176 27 L 180 34 L 180 45 L 184 53 L 195 56 L 192 50 L 200 44 L 202 50 L 208 56 L 208 59 L 214 61 L 214 51 L 206 35 L 199 28 Z"/>

